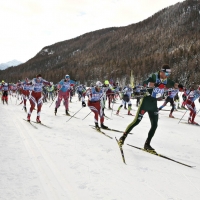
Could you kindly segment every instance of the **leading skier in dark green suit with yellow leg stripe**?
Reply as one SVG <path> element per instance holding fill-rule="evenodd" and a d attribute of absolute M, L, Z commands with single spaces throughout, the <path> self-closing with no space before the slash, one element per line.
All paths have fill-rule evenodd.
<path fill-rule="evenodd" d="M 175 83 L 174 81 L 168 79 L 168 76 L 170 74 L 171 69 L 169 65 L 165 64 L 162 66 L 160 71 L 151 74 L 149 78 L 144 81 L 144 86 L 148 87 L 146 95 L 144 95 L 144 97 L 141 99 L 141 103 L 138 107 L 135 119 L 127 126 L 124 134 L 119 139 L 120 146 L 124 144 L 127 135 L 135 126 L 137 126 L 141 122 L 144 114 L 148 112 L 151 121 L 151 128 L 144 144 L 144 149 L 149 151 L 154 150 L 154 148 L 151 147 L 150 142 L 158 126 L 157 99 L 162 98 L 165 87 L 178 88 L 178 83 Z"/>

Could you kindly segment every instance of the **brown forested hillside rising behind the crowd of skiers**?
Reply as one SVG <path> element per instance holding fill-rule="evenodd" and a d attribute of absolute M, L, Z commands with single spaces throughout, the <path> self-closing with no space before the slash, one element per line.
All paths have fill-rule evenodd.
<path fill-rule="evenodd" d="M 200 83 L 200 1 L 186 0 L 126 27 L 111 27 L 44 47 L 24 64 L 0 70 L 0 79 L 17 81 L 37 73 L 57 82 L 69 74 L 89 85 L 96 80 L 136 83 L 163 63 L 182 84 Z"/>

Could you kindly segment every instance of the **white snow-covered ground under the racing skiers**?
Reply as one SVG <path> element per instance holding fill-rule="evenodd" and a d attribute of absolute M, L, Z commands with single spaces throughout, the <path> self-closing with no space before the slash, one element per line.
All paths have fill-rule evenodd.
<path fill-rule="evenodd" d="M 77 96 L 70 103 L 71 115 L 81 109 Z M 137 107 L 132 100 L 132 113 Z M 110 139 L 93 130 L 93 113 L 82 108 L 71 118 L 63 115 L 64 106 L 54 115 L 54 104 L 44 103 L 41 120 L 51 129 L 26 121 L 22 105 L 9 97 L 9 105 L 0 104 L 0 199 L 2 200 L 199 200 L 200 199 L 200 127 L 178 123 L 160 111 L 159 126 L 151 145 L 158 153 L 175 162 L 137 150 L 127 144 L 143 147 L 150 129 L 148 114 L 136 126 L 123 146 L 127 165 L 122 162 L 114 139 L 122 134 L 105 130 Z M 158 102 L 161 105 L 163 102 Z M 107 105 L 107 104 L 106 104 Z M 120 100 L 114 104 L 114 109 Z M 197 110 L 200 108 L 196 102 Z M 29 107 L 29 106 L 27 106 Z M 169 110 L 170 106 L 164 109 Z M 124 131 L 133 120 L 125 115 L 114 115 L 105 110 L 110 119 L 105 125 Z M 90 114 L 89 114 L 90 113 Z M 181 118 L 185 111 L 174 112 Z M 84 120 L 82 120 L 87 114 Z M 181 122 L 186 122 L 189 112 Z M 36 111 L 32 120 L 36 118 Z M 200 123 L 200 113 L 196 116 Z"/>

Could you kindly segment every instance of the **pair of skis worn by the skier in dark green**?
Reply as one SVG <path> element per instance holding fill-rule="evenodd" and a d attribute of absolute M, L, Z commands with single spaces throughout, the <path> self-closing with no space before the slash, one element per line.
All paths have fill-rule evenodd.
<path fill-rule="evenodd" d="M 119 145 L 119 141 L 117 140 L 116 137 L 115 137 L 115 139 L 116 139 L 117 144 L 118 144 L 118 146 L 119 146 L 119 149 L 120 149 L 120 152 L 121 152 L 121 156 L 122 156 L 122 160 L 123 160 L 124 164 L 126 164 L 126 162 L 125 162 L 125 156 L 124 156 L 124 152 L 123 152 L 123 148 L 122 148 L 122 146 Z M 127 144 L 127 145 L 130 146 L 130 147 L 136 148 L 136 149 L 138 149 L 138 150 L 145 151 L 145 152 L 150 153 L 150 154 L 152 154 L 152 155 L 159 156 L 159 157 L 161 157 L 161 158 L 164 158 L 164 159 L 170 160 L 170 161 L 172 161 L 172 162 L 178 163 L 178 164 L 180 164 L 180 165 L 184 165 L 184 166 L 186 166 L 186 167 L 190 167 L 190 168 L 195 167 L 195 166 L 191 166 L 191 165 L 187 165 L 187 164 L 185 164 L 185 163 L 179 162 L 179 161 L 177 161 L 177 160 L 174 160 L 174 159 L 169 158 L 169 157 L 167 157 L 167 156 L 164 156 L 164 155 L 162 155 L 162 154 L 159 154 L 159 153 L 157 153 L 156 151 L 148 151 L 148 150 L 146 150 L 146 149 L 143 149 L 143 148 L 140 148 L 140 147 L 137 147 L 137 146 L 134 146 L 134 145 L 130 145 L 130 144 Z"/>

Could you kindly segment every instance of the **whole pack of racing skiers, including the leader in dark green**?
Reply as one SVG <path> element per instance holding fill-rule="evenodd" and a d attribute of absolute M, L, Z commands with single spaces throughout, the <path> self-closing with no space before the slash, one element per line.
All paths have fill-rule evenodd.
<path fill-rule="evenodd" d="M 37 109 L 36 122 L 41 123 L 41 109 L 44 96 L 46 96 L 46 94 L 43 92 L 44 87 L 48 91 L 48 96 L 52 102 L 56 99 L 54 110 L 55 115 L 57 114 L 58 108 L 60 107 L 62 101 L 65 107 L 65 114 L 70 115 L 69 101 L 71 101 L 74 90 L 76 90 L 82 107 L 86 107 L 87 105 L 91 112 L 94 113 L 94 125 L 99 131 L 100 128 L 108 128 L 104 124 L 106 102 L 108 102 L 107 108 L 112 109 L 111 104 L 113 103 L 112 105 L 114 105 L 116 99 L 120 96 L 119 93 L 122 93 L 122 102 L 118 107 L 116 114 L 119 115 L 121 108 L 127 104 L 127 114 L 132 115 L 131 99 L 136 98 L 136 106 L 138 107 L 138 110 L 136 113 L 134 113 L 134 120 L 127 126 L 124 134 L 120 137 L 119 145 L 122 146 L 124 144 L 124 141 L 130 131 L 142 121 L 144 114 L 148 113 L 151 127 L 144 143 L 144 149 L 148 151 L 154 151 L 154 148 L 151 146 L 151 141 L 158 126 L 159 111 L 162 110 L 167 103 L 170 103 L 172 109 L 170 110 L 169 117 L 173 118 L 173 112 L 176 109 L 174 100 L 175 97 L 177 98 L 179 91 L 184 91 L 184 106 L 186 106 L 190 111 L 188 123 L 194 125 L 198 124 L 195 122 L 195 117 L 197 114 L 195 101 L 199 99 L 200 102 L 200 86 L 192 84 L 191 87 L 186 90 L 182 84 L 171 80 L 169 78 L 170 74 L 171 69 L 169 65 L 165 64 L 158 72 L 150 74 L 149 78 L 144 80 L 143 84 L 139 84 L 134 88 L 129 84 L 122 90 L 119 88 L 118 83 L 110 84 L 108 80 L 105 80 L 103 83 L 101 81 L 97 81 L 89 88 L 86 88 L 85 85 L 80 84 L 74 89 L 70 82 L 70 75 L 68 74 L 65 75 L 64 79 L 59 81 L 56 87 L 54 86 L 53 82 L 43 79 L 41 74 L 38 74 L 32 80 L 25 78 L 24 81 L 19 81 L 16 86 L 22 96 L 23 107 L 25 111 L 27 111 L 27 100 L 30 102 L 30 109 L 27 113 L 27 121 L 31 120 L 33 110 Z M 2 102 L 8 104 L 9 84 L 5 81 L 2 81 L 0 90 L 2 92 Z M 57 91 L 57 96 L 54 96 L 54 91 Z M 163 105 L 158 108 L 157 101 L 163 99 L 164 92 L 166 91 L 167 97 Z"/>

